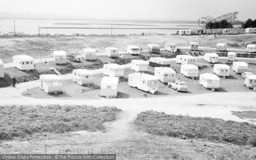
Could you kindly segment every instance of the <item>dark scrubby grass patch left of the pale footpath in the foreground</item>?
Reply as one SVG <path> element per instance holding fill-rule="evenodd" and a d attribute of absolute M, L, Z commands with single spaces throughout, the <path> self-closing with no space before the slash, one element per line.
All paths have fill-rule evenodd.
<path fill-rule="evenodd" d="M 116 119 L 115 107 L 92 106 L 0 106 L 0 140 L 26 137 L 35 133 L 102 131 L 103 123 Z"/>

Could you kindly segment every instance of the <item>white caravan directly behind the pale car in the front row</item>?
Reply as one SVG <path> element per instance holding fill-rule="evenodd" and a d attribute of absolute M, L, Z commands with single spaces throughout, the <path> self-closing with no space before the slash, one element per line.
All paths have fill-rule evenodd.
<path fill-rule="evenodd" d="M 176 78 L 176 72 L 170 67 L 155 67 L 154 76 L 157 76 L 158 80 L 163 83 L 173 83 Z"/>

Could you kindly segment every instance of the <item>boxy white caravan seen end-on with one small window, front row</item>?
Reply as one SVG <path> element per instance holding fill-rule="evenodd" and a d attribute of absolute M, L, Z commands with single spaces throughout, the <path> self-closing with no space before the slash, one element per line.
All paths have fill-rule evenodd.
<path fill-rule="evenodd" d="M 118 90 L 118 77 L 103 77 L 100 85 L 100 96 L 117 96 Z"/>

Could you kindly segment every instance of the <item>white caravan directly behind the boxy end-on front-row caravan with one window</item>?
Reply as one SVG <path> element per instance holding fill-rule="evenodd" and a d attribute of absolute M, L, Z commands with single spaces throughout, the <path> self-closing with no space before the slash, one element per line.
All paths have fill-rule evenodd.
<path fill-rule="evenodd" d="M 103 74 L 110 77 L 124 76 L 124 67 L 119 64 L 104 64 Z"/>

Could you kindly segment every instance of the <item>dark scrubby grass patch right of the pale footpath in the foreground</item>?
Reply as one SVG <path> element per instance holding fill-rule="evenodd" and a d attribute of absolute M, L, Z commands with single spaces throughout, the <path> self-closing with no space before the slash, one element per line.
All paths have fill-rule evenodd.
<path fill-rule="evenodd" d="M 247 122 L 145 111 L 138 114 L 134 123 L 143 131 L 160 136 L 256 146 L 256 125 Z"/>

